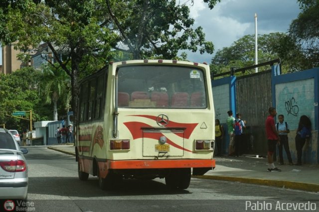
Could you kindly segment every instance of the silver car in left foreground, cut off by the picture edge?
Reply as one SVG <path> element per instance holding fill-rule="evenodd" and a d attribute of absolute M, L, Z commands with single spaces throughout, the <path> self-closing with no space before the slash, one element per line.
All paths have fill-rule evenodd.
<path fill-rule="evenodd" d="M 0 128 L 0 199 L 27 198 L 28 167 L 23 156 L 27 152 L 7 129 Z"/>

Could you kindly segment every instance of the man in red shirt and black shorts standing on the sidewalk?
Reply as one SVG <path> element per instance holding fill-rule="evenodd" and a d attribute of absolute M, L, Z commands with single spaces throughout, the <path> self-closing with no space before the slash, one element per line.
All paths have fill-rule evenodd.
<path fill-rule="evenodd" d="M 277 111 L 276 108 L 270 107 L 269 108 L 269 115 L 266 119 L 266 134 L 267 134 L 267 139 L 268 139 L 268 154 L 267 154 L 267 159 L 268 159 L 268 169 L 267 172 L 281 172 L 280 169 L 275 167 L 274 162 L 273 162 L 273 153 L 276 151 L 276 144 L 277 142 L 280 141 L 280 137 L 278 135 L 278 132 L 275 127 L 275 119 L 274 117 L 276 116 Z"/>

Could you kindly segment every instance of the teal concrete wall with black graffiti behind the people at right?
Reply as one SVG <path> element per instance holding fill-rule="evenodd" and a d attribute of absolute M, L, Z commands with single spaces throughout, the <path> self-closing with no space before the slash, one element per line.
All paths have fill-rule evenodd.
<path fill-rule="evenodd" d="M 274 76 L 274 106 L 278 115 L 283 114 L 285 121 L 289 124 L 288 134 L 290 152 L 293 161 L 297 161 L 297 150 L 295 144 L 296 130 L 300 116 L 307 115 L 312 122 L 312 137 L 306 141 L 303 148 L 302 162 L 308 164 L 319 163 L 319 139 L 318 139 L 318 75 L 319 69 L 305 70 L 302 72 Z M 286 152 L 283 152 L 284 160 L 287 162 Z"/>

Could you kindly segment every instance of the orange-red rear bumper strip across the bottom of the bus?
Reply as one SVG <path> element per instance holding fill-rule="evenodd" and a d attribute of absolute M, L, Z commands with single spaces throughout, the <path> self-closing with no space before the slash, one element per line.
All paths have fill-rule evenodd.
<path fill-rule="evenodd" d="M 108 161 L 110 169 L 161 169 L 215 167 L 214 159 Z"/>

